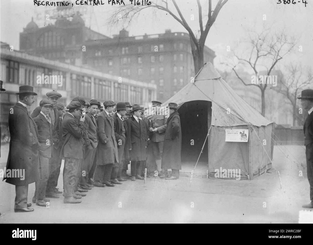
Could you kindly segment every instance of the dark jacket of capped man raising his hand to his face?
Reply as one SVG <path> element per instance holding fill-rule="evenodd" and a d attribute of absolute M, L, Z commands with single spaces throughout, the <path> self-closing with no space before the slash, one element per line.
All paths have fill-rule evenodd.
<path fill-rule="evenodd" d="M 85 134 L 84 122 L 74 118 L 73 115 L 66 113 L 62 121 L 62 148 L 60 157 L 83 158 Z"/>

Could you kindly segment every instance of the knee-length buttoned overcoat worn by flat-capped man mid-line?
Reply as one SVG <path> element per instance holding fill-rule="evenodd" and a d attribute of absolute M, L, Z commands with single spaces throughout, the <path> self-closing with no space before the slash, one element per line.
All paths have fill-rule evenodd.
<path fill-rule="evenodd" d="M 97 125 L 97 165 L 118 163 L 117 144 L 114 135 L 114 122 L 105 110 L 98 115 Z"/>

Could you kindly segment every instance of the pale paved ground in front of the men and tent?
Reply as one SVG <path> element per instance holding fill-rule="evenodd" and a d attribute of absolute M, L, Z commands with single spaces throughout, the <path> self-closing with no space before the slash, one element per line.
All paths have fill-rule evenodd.
<path fill-rule="evenodd" d="M 147 178 L 146 184 L 128 180 L 114 188 L 95 187 L 80 204 L 64 204 L 60 194 L 50 198 L 49 208 L 33 204 L 34 212 L 14 213 L 15 188 L 1 181 L 0 223 L 297 223 L 302 204 L 310 202 L 305 150 L 287 149 L 290 152 L 274 149 L 283 189 L 273 169 L 252 181 L 194 178 L 189 184 L 187 177 Z M 7 154 L 8 145 L 1 146 L 0 169 Z M 305 169 L 284 157 L 291 154 Z M 58 187 L 62 189 L 61 178 Z M 34 188 L 29 185 L 28 202 Z"/>

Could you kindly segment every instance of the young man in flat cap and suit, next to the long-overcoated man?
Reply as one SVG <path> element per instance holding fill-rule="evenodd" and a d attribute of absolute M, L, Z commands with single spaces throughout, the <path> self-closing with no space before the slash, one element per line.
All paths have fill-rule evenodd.
<path fill-rule="evenodd" d="M 50 118 L 50 110 L 53 110 L 53 103 L 50 100 L 39 102 L 41 111 L 33 120 L 38 129 L 38 141 L 40 143 L 39 158 L 41 163 L 42 179 L 35 183 L 35 193 L 33 203 L 46 207 L 49 199 L 45 198 L 47 182 L 49 178 L 49 159 L 51 158 L 53 147 L 53 125 Z"/>

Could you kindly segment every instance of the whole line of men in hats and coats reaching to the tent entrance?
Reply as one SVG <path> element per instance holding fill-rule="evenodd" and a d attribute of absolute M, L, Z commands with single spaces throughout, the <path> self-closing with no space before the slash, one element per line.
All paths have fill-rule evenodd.
<path fill-rule="evenodd" d="M 4 178 L 15 185 L 15 212 L 31 212 L 27 203 L 28 184 L 35 182 L 32 202 L 47 206 L 48 198 L 64 196 L 64 203 L 81 203 L 93 187 L 114 187 L 127 178 L 143 180 L 147 145 L 152 143 L 156 168 L 161 178 L 179 178 L 181 127 L 177 104 L 169 103 L 169 117 L 145 117 L 144 108 L 129 102 L 76 96 L 65 108 L 57 91 L 29 115 L 34 103 L 32 86 L 20 86 L 19 101 L 9 114 L 11 135 L 7 169 L 25 169 L 25 178 Z M 161 102 L 152 101 L 154 107 Z M 156 110 L 157 111 L 157 110 Z M 63 189 L 57 188 L 64 158 Z M 131 164 L 131 175 L 127 174 Z M 162 169 L 164 169 L 162 171 Z M 172 169 L 168 176 L 167 169 Z"/>

